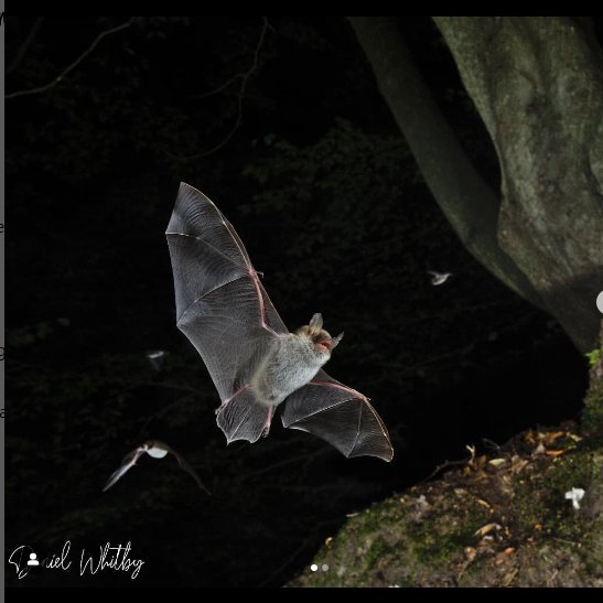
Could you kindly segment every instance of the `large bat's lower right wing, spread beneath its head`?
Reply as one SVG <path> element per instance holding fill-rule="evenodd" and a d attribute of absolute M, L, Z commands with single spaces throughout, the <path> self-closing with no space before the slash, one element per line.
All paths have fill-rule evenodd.
<path fill-rule="evenodd" d="M 286 428 L 313 433 L 347 457 L 394 457 L 387 429 L 368 399 L 324 370 L 289 396 L 281 417 Z"/>

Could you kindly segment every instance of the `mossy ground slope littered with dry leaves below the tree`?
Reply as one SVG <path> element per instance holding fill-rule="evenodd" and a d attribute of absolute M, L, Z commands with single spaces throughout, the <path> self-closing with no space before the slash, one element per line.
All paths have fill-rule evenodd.
<path fill-rule="evenodd" d="M 349 517 L 291 585 L 603 586 L 595 442 L 566 424 L 469 448 L 462 466 Z"/>

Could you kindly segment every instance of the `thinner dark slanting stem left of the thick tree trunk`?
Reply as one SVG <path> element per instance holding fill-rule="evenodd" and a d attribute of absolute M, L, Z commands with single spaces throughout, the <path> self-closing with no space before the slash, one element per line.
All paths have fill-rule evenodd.
<path fill-rule="evenodd" d="M 477 173 L 443 118 L 397 24 L 387 17 L 348 20 L 427 185 L 463 245 L 507 287 L 542 306 L 531 283 L 498 246 L 498 195 Z"/>

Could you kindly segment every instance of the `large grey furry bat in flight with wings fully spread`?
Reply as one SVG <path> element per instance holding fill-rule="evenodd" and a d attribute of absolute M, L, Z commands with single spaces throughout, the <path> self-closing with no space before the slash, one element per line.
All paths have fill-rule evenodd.
<path fill-rule="evenodd" d="M 177 327 L 218 390 L 227 443 L 268 435 L 274 411 L 286 428 L 322 438 L 345 456 L 391 461 L 387 429 L 368 398 L 322 366 L 340 343 L 321 314 L 290 333 L 233 225 L 203 193 L 181 183 L 166 231 Z"/>

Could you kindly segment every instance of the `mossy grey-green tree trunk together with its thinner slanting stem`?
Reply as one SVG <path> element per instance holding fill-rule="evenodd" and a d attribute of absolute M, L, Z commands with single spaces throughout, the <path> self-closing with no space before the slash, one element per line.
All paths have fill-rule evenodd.
<path fill-rule="evenodd" d="M 434 18 L 498 153 L 498 196 L 443 120 L 395 21 L 349 20 L 465 247 L 592 349 L 603 289 L 603 57 L 590 32 L 571 18 Z"/>

